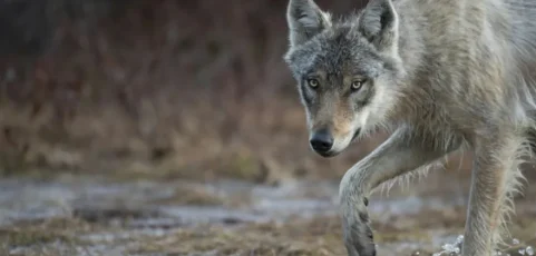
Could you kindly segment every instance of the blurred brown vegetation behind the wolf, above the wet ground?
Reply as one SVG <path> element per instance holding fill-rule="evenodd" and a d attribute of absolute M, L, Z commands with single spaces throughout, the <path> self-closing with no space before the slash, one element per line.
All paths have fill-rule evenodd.
<path fill-rule="evenodd" d="M 56 9 L 25 8 L 70 14 L 26 17 L 29 28 L 17 28 L 28 33 L 48 21 L 48 33 L 32 37 L 46 47 L 10 51 L 17 53 L 1 65 L 3 173 L 265 181 L 280 174 L 339 176 L 370 150 L 361 144 L 330 160 L 310 151 L 282 60 L 286 1 L 95 1 L 87 13 L 80 2 L 48 4 Z M 41 13 L 33 9 L 29 13 Z"/>

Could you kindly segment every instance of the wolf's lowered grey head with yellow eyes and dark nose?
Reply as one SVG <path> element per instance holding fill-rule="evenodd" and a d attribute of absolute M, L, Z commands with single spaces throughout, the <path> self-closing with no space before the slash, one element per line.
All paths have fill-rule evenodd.
<path fill-rule="evenodd" d="M 313 0 L 290 0 L 284 59 L 305 106 L 311 147 L 323 157 L 386 124 L 403 76 L 399 18 L 391 0 L 333 20 Z"/>

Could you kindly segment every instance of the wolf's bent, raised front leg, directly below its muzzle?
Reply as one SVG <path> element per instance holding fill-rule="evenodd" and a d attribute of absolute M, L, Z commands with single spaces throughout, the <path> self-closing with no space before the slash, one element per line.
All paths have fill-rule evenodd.
<path fill-rule="evenodd" d="M 448 141 L 448 145 L 438 144 Z M 350 256 L 376 255 L 367 211 L 370 193 L 382 183 L 415 170 L 459 148 L 459 139 L 441 139 L 399 128 L 343 176 L 339 196 L 344 245 Z"/>

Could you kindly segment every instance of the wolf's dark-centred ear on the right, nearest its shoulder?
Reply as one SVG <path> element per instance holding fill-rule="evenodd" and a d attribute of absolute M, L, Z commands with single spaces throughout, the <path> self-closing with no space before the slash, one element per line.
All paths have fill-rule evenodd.
<path fill-rule="evenodd" d="M 359 18 L 359 30 L 380 51 L 397 51 L 398 19 L 391 0 L 371 0 Z"/>

